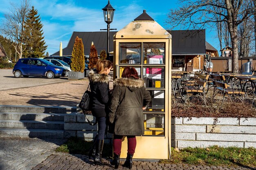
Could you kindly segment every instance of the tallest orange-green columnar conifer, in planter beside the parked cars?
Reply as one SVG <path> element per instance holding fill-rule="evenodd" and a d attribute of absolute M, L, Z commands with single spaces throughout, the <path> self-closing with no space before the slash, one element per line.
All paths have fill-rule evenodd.
<path fill-rule="evenodd" d="M 70 68 L 74 72 L 83 72 L 85 69 L 83 41 L 78 36 L 75 39 Z"/>

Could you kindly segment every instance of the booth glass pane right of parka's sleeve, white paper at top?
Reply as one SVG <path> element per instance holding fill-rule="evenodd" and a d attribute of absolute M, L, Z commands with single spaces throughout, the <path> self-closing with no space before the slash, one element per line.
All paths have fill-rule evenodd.
<path fill-rule="evenodd" d="M 164 90 L 150 90 L 151 101 L 145 111 L 164 111 Z"/>

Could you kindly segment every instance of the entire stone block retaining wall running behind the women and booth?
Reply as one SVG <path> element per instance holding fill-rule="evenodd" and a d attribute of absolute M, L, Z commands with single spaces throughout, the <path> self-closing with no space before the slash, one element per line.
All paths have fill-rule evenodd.
<path fill-rule="evenodd" d="M 95 122 L 92 115 L 87 118 Z M 152 124 L 156 122 L 152 122 Z M 81 113 L 71 113 L 64 117 L 64 137 L 84 138 L 92 141 L 97 135 L 97 125 L 91 126 Z M 86 122 L 86 123 L 85 123 Z M 112 140 L 107 134 L 106 142 Z M 256 118 L 172 118 L 171 146 L 176 148 L 237 146 L 256 148 Z"/>

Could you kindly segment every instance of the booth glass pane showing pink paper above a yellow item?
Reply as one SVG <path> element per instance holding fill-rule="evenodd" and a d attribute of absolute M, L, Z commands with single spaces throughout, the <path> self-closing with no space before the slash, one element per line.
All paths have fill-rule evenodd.
<path fill-rule="evenodd" d="M 164 68 L 143 68 L 143 79 L 146 87 L 164 88 Z"/>

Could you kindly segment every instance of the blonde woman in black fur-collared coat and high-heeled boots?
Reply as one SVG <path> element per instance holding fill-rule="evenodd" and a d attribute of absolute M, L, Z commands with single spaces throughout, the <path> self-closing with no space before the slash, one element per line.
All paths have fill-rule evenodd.
<path fill-rule="evenodd" d="M 96 117 L 98 122 L 98 134 L 94 139 L 95 155 L 94 163 L 103 165 L 104 162 L 101 159 L 101 153 L 103 149 L 104 136 L 106 130 L 106 116 L 108 114 L 108 103 L 109 103 L 109 81 L 108 76 L 112 63 L 109 60 L 99 60 L 96 63 L 96 69 L 90 70 L 88 73 L 88 79 L 90 81 L 90 107 L 92 115 Z M 89 157 L 92 156 L 94 146 L 89 152 Z"/>

